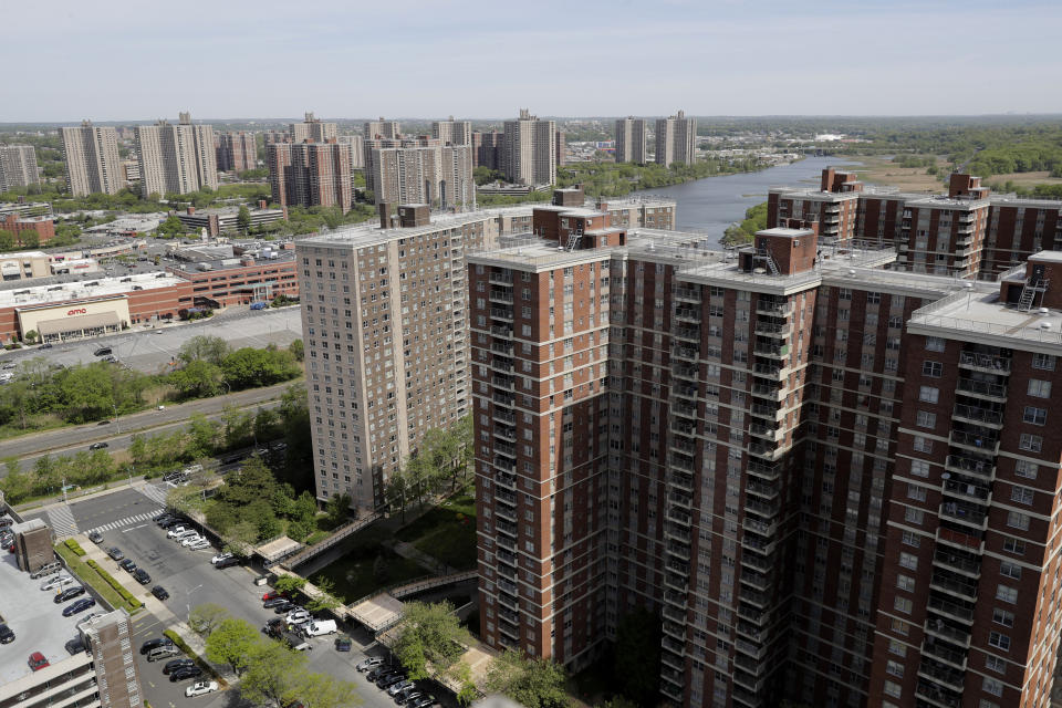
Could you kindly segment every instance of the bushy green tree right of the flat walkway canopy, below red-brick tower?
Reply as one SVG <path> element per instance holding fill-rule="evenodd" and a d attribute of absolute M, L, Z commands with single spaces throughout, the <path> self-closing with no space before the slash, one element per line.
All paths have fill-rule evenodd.
<path fill-rule="evenodd" d="M 393 650 L 409 671 L 409 678 L 419 680 L 431 676 L 428 663 L 435 671 L 452 666 L 470 641 L 471 635 L 461 626 L 449 602 L 410 602 L 403 607 Z"/>

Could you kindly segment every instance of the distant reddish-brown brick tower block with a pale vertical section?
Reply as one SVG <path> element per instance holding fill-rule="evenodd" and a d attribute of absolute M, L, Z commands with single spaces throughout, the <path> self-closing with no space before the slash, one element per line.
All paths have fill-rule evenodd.
<path fill-rule="evenodd" d="M 273 202 L 285 207 L 351 208 L 350 147 L 329 143 L 270 143 L 266 167 Z"/>

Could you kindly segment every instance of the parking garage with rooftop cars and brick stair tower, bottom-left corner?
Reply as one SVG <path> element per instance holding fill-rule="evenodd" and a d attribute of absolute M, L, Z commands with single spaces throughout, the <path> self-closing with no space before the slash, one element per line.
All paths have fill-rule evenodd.
<path fill-rule="evenodd" d="M 139 708 L 143 691 L 128 613 L 115 610 L 88 621 L 64 617 L 63 606 L 40 584 L 14 564 L 0 563 L 0 615 L 15 635 L 10 644 L 0 644 L 0 706 Z M 46 665 L 32 668 L 34 653 Z"/>

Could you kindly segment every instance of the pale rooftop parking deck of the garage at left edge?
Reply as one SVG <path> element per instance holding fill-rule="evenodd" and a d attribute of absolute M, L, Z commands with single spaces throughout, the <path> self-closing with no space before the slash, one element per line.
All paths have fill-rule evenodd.
<path fill-rule="evenodd" d="M 80 636 L 79 615 L 63 616 L 63 607 L 74 601 L 56 605 L 54 593 L 41 590 L 44 582 L 20 571 L 13 553 L 0 554 L 0 615 L 15 636 L 11 644 L 0 644 L 0 685 L 32 674 L 27 662 L 33 652 L 53 666 L 69 659 L 64 645 Z"/>

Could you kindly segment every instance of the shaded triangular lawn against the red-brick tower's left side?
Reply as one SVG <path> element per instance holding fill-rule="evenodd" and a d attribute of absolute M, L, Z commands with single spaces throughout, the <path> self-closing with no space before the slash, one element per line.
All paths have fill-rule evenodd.
<path fill-rule="evenodd" d="M 475 492 L 467 489 L 447 499 L 399 529 L 395 538 L 451 568 L 473 570 L 477 562 Z"/>

